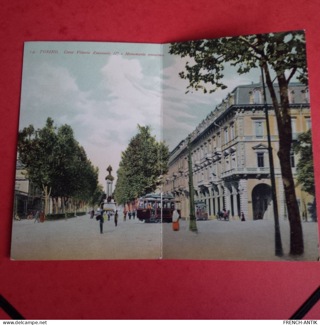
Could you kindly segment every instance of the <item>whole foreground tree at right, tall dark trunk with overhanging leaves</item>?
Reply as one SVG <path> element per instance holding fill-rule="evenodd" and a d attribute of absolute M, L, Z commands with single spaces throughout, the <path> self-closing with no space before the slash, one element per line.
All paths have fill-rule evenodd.
<path fill-rule="evenodd" d="M 292 129 L 288 84 L 294 75 L 298 75 L 300 82 L 307 84 L 304 32 L 280 32 L 172 43 L 169 53 L 180 55 L 181 58 L 189 56 L 194 60 L 194 63 L 186 62 L 186 72 L 180 72 L 179 75 L 180 78 L 189 80 L 187 88 L 201 89 L 204 93 L 207 93 L 207 84 L 213 86 L 209 89 L 209 93 L 227 87 L 221 81 L 226 62 L 237 66 L 239 74 L 249 72 L 252 68 L 263 69 L 279 131 L 278 157 L 290 224 L 290 254 L 302 254 L 304 251 L 302 227 L 290 167 Z M 271 78 L 272 71 L 276 74 L 275 79 L 280 88 L 280 101 L 277 99 L 274 80 Z"/>

